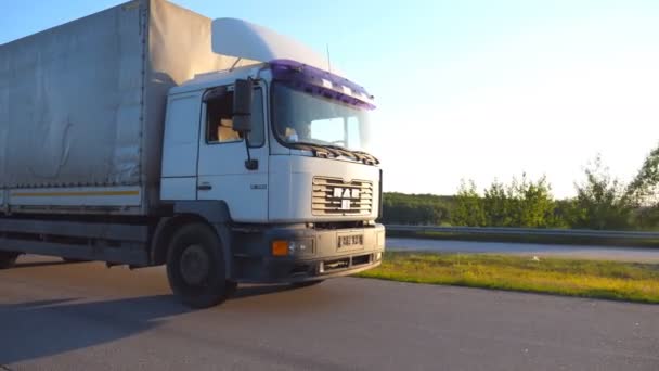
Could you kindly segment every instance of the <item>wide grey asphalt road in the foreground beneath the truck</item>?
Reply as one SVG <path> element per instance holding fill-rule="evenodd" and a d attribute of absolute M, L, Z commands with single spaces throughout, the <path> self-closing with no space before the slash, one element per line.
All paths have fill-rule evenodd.
<path fill-rule="evenodd" d="M 659 306 L 336 279 L 192 311 L 161 268 L 0 271 L 10 370 L 659 370 Z"/>

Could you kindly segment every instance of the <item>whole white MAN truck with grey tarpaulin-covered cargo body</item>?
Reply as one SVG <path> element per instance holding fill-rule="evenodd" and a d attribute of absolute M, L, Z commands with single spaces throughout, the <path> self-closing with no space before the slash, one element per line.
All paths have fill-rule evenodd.
<path fill-rule="evenodd" d="M 167 266 L 203 308 L 237 283 L 379 265 L 372 97 L 301 43 L 164 0 L 0 46 L 0 267 Z"/>

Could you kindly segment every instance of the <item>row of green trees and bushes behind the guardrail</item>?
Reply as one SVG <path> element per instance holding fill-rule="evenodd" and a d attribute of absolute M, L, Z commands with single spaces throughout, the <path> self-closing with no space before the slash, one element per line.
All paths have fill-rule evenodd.
<path fill-rule="evenodd" d="M 507 183 L 493 181 L 479 192 L 463 181 L 457 194 L 385 193 L 385 223 L 468 227 L 580 228 L 597 230 L 659 229 L 659 146 L 635 178 L 623 183 L 597 157 L 574 184 L 577 195 L 556 200 L 546 177 L 522 175 Z"/>

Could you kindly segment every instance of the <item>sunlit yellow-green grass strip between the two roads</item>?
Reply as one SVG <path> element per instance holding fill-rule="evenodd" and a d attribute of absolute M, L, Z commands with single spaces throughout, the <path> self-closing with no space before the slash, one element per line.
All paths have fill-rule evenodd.
<path fill-rule="evenodd" d="M 484 254 L 386 253 L 382 280 L 659 304 L 659 265 Z"/>

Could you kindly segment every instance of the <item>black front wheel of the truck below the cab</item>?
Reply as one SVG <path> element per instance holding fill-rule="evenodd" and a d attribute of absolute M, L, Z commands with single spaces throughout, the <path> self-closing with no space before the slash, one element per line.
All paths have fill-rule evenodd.
<path fill-rule="evenodd" d="M 224 273 L 222 245 L 215 231 L 194 223 L 175 233 L 167 252 L 167 277 L 183 304 L 208 308 L 223 302 L 231 291 Z"/>

